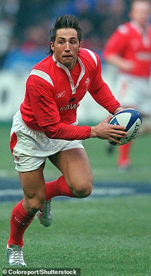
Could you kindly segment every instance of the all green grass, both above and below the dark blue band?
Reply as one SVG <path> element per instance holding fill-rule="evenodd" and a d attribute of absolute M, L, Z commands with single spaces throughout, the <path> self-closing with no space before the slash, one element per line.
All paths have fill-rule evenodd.
<path fill-rule="evenodd" d="M 0 126 L 0 175 L 17 177 L 9 150 L 10 126 Z M 136 139 L 132 168 L 116 168 L 117 149 L 108 156 L 99 139 L 83 142 L 94 180 L 150 182 L 150 137 Z M 60 173 L 49 162 L 45 176 Z M 32 222 L 24 235 L 29 268 L 80 268 L 81 276 L 151 276 L 151 196 L 53 201 L 53 223 L 45 228 Z M 5 247 L 15 203 L 0 204 L 0 268 L 8 267 Z"/>

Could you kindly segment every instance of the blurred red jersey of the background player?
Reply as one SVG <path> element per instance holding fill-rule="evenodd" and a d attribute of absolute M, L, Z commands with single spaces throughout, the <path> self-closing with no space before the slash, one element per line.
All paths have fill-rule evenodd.
<path fill-rule="evenodd" d="M 148 78 L 151 70 L 151 26 L 143 31 L 133 21 L 120 25 L 107 42 L 103 54 L 105 58 L 117 54 L 134 61 L 135 66 L 128 74 Z"/>

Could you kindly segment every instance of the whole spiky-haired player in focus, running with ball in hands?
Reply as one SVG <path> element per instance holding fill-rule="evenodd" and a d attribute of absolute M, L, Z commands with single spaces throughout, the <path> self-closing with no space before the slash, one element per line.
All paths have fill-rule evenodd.
<path fill-rule="evenodd" d="M 91 194 L 92 172 L 82 140 L 126 137 L 125 127 L 109 124 L 78 126 L 76 110 L 88 91 L 110 113 L 122 110 L 101 77 L 100 58 L 82 49 L 82 30 L 75 16 L 59 17 L 50 30 L 49 56 L 34 66 L 25 99 L 13 117 L 10 148 L 24 199 L 12 210 L 7 244 L 10 265 L 23 265 L 23 235 L 38 212 L 40 223 L 51 223 L 50 203 L 56 196 L 83 198 Z M 62 176 L 45 183 L 46 159 Z M 44 204 L 43 204 L 44 203 Z"/>

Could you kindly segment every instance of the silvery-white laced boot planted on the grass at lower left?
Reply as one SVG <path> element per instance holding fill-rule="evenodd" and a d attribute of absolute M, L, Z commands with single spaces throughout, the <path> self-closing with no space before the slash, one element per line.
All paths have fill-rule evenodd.
<path fill-rule="evenodd" d="M 10 244 L 10 247 L 8 247 L 7 244 L 7 257 L 8 257 L 8 263 L 10 266 L 27 266 L 24 261 L 24 246 L 20 245 L 13 245 Z"/>

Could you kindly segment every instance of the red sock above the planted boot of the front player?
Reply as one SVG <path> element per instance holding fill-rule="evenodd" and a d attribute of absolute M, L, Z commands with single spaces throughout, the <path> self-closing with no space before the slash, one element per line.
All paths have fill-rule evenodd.
<path fill-rule="evenodd" d="M 8 239 L 8 246 L 10 246 L 10 244 L 17 244 L 21 247 L 24 245 L 24 232 L 35 217 L 31 217 L 29 214 L 27 214 L 22 205 L 22 202 L 23 200 L 21 200 L 12 210 L 10 220 L 11 229 L 10 236 Z"/>

